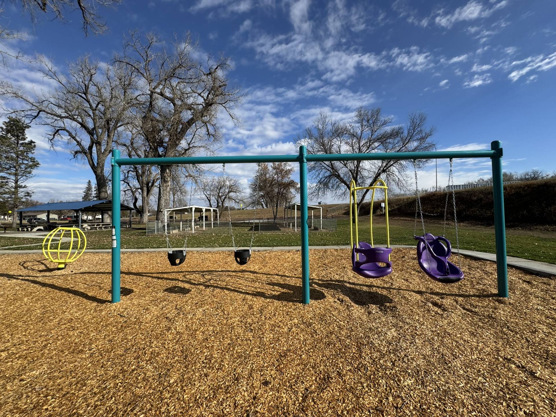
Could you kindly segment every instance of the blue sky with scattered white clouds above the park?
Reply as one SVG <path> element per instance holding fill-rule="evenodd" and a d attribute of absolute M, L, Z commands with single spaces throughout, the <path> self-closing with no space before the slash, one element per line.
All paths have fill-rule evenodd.
<path fill-rule="evenodd" d="M 325 111 L 346 120 L 358 106 L 380 106 L 394 123 L 423 111 L 438 128 L 438 149 L 488 148 L 501 140 L 506 170 L 556 169 L 556 2 L 471 1 L 130 1 L 101 9 L 110 32 L 85 37 L 79 16 L 39 21 L 6 4 L 11 29 L 27 31 L 12 48 L 52 58 L 63 69 L 83 54 L 108 62 L 131 29 L 171 41 L 190 31 L 198 56 L 231 58 L 232 82 L 244 99 L 242 125 L 222 118 L 222 155 L 295 153 L 298 133 Z M 6 26 L 6 22 L 3 23 Z M 27 88 L 48 88 L 16 62 L 1 77 Z M 41 128 L 42 166 L 35 198 L 80 198 L 88 166 L 49 150 Z M 455 161 L 455 182 L 490 175 L 490 161 Z M 247 185 L 254 166 L 227 166 Z M 439 161 L 438 182 L 447 181 Z M 419 172 L 435 183 L 434 163 Z"/>

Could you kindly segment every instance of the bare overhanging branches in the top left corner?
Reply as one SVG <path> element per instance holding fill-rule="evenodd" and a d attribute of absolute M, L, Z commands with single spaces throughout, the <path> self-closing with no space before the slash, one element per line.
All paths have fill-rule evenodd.
<path fill-rule="evenodd" d="M 89 31 L 93 34 L 101 34 L 107 31 L 106 24 L 102 22 L 102 17 L 97 13 L 97 8 L 120 4 L 121 0 L 11 0 L 11 3 L 19 4 L 23 13 L 31 18 L 33 24 L 37 22 L 40 15 L 46 16 L 49 20 L 59 19 L 65 22 L 67 11 L 77 10 L 81 14 L 83 32 L 87 36 Z M 6 18 L 5 14 L 4 9 L 0 9 L 0 18 Z M 7 27 L 0 26 L 0 45 L 2 46 L 0 47 L 0 57 L 4 65 L 6 64 L 6 57 L 23 58 L 22 53 L 12 51 L 6 41 L 24 39 L 25 36 L 26 33 L 14 32 Z"/>

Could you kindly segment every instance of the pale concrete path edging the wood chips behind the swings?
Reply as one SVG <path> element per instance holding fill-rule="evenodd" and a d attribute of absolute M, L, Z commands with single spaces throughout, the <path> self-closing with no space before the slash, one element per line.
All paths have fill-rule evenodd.
<path fill-rule="evenodd" d="M 409 245 L 392 245 L 392 247 L 409 247 L 415 249 L 415 246 Z M 309 246 L 309 249 L 350 249 L 349 245 L 343 246 Z M 191 247 L 187 249 L 191 252 L 231 252 L 233 247 Z M 256 246 L 252 247 L 253 251 L 300 251 L 301 246 Z M 87 249 L 85 252 L 111 252 L 111 249 Z M 122 252 L 166 252 L 165 247 L 160 248 L 146 248 L 146 249 L 122 249 Z M 461 249 L 460 253 L 472 257 L 474 259 L 481 259 L 485 261 L 496 262 L 495 254 L 487 254 L 486 252 L 477 252 Z M 42 250 L 0 250 L 0 254 L 42 254 Z M 452 256 L 455 256 L 453 252 Z M 548 264 L 547 262 L 532 261 L 529 259 L 517 258 L 508 256 L 508 266 L 530 272 L 536 275 L 554 275 L 556 276 L 556 265 Z"/>

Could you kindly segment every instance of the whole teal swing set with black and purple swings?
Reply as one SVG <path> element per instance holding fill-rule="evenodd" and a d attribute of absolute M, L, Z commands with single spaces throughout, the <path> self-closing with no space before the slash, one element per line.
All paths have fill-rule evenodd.
<path fill-rule="evenodd" d="M 120 182 L 121 167 L 127 165 L 197 165 L 209 163 L 223 164 L 224 174 L 226 163 L 269 163 L 269 162 L 297 162 L 300 172 L 300 197 L 301 197 L 301 300 L 303 304 L 309 304 L 310 282 L 309 282 L 309 226 L 307 209 L 307 163 L 325 161 L 378 161 L 378 160 L 405 160 L 414 161 L 415 167 L 415 186 L 416 186 L 416 213 L 421 215 L 423 225 L 423 236 L 414 236 L 418 241 L 417 255 L 421 270 L 431 278 L 444 283 L 457 282 L 463 278 L 463 273 L 459 267 L 448 261 L 451 255 L 451 244 L 445 236 L 434 236 L 425 231 L 423 210 L 420 206 L 420 196 L 417 187 L 416 160 L 448 159 L 450 160 L 450 180 L 453 185 L 452 160 L 455 158 L 490 158 L 492 160 L 493 174 L 493 197 L 494 197 L 494 230 L 496 239 L 496 260 L 497 260 L 497 285 L 498 296 L 508 297 L 508 266 L 506 255 L 505 239 L 505 219 L 504 219 L 504 188 L 502 182 L 502 147 L 499 141 L 490 144 L 490 150 L 483 151 L 437 151 L 437 152 L 371 152 L 371 153 L 323 153 L 307 154 L 305 146 L 300 146 L 297 155 L 258 155 L 258 156 L 197 156 L 197 157 L 175 157 L 175 158 L 121 158 L 120 151 L 112 150 L 112 302 L 120 301 Z M 377 181 L 371 187 L 356 187 L 355 183 L 350 187 L 350 200 L 356 197 L 356 191 L 369 189 L 372 190 L 374 200 L 375 190 L 384 190 L 385 200 L 387 197 L 386 184 L 384 181 Z M 450 186 L 448 187 L 450 191 Z M 451 187 L 454 204 L 454 223 L 456 226 L 456 243 L 459 239 L 457 235 L 457 221 L 455 217 L 455 194 Z M 191 197 L 191 193 L 190 193 Z M 355 198 L 356 201 L 356 198 Z M 385 201 L 386 205 L 386 201 Z M 351 206 L 351 205 L 350 205 Z M 390 241 L 389 234 L 386 236 L 386 247 L 374 247 L 373 227 L 372 227 L 372 202 L 371 202 L 371 235 L 369 242 L 358 242 L 359 235 L 357 224 L 355 224 L 355 242 L 353 239 L 353 229 L 351 233 L 352 261 L 353 270 L 360 275 L 367 277 L 381 277 L 391 273 L 392 265 L 390 262 Z M 386 222 L 388 230 L 388 207 L 386 206 Z M 228 205 L 230 210 L 230 204 Z M 448 209 L 448 195 L 446 196 L 446 206 L 444 210 L 445 220 Z M 356 211 L 355 211 L 356 213 Z M 355 216 L 356 217 L 356 216 Z M 229 221 L 231 216 L 229 211 Z M 356 222 L 356 220 L 355 220 Z M 415 226 L 416 228 L 416 226 Z M 253 230 L 255 225 L 253 226 Z M 249 249 L 238 249 L 235 245 L 233 231 L 231 232 L 232 245 L 234 246 L 234 258 L 237 264 L 245 265 L 251 258 L 251 249 L 254 234 L 251 236 Z M 187 234 L 182 249 L 183 260 L 186 256 Z M 168 259 L 170 260 L 173 249 L 168 241 Z M 181 260 L 181 253 L 177 254 L 177 262 Z M 181 264 L 180 262 L 180 264 Z"/>

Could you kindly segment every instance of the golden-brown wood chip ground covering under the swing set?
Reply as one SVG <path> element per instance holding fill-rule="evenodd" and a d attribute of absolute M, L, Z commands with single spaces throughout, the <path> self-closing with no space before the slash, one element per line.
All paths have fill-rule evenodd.
<path fill-rule="evenodd" d="M 395 272 L 365 280 L 345 250 L 122 254 L 64 271 L 4 255 L 1 416 L 554 415 L 553 277 L 465 260 L 441 285 L 396 249 Z"/>

